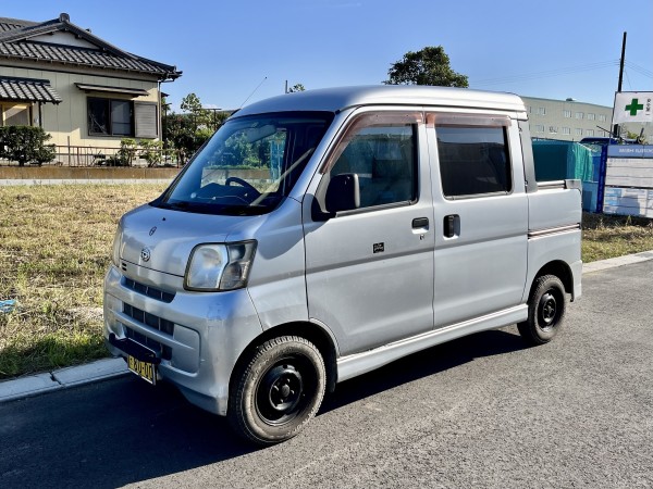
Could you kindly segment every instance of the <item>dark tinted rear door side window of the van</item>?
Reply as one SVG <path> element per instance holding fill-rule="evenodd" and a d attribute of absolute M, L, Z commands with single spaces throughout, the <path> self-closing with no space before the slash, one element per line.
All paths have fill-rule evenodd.
<path fill-rule="evenodd" d="M 453 117 L 449 117 L 453 118 Z M 435 121 L 444 197 L 507 193 L 513 188 L 507 125 L 496 117 Z"/>

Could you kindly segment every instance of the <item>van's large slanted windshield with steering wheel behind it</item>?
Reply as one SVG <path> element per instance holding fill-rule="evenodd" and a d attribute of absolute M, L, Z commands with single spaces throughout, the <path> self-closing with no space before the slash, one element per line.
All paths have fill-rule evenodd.
<path fill-rule="evenodd" d="M 207 214 L 272 211 L 288 195 L 333 118 L 284 112 L 229 120 L 155 206 Z"/>

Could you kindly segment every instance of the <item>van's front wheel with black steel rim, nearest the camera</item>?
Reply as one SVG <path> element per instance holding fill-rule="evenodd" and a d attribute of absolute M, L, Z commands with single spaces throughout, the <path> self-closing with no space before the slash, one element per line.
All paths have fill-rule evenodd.
<path fill-rule="evenodd" d="M 227 418 L 257 444 L 299 434 L 316 415 L 325 388 L 324 361 L 305 338 L 282 336 L 257 347 L 235 372 Z"/>

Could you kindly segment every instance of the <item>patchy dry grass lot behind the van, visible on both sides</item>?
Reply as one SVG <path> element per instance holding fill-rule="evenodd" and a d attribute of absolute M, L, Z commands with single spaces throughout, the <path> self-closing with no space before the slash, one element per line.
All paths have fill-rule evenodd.
<path fill-rule="evenodd" d="M 0 379 L 107 356 L 102 279 L 118 220 L 163 185 L 0 187 Z M 583 215 L 584 262 L 653 250 L 649 220 Z"/>

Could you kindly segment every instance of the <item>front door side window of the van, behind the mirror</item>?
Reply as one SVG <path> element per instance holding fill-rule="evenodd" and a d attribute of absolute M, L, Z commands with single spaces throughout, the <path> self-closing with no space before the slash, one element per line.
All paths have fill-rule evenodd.
<path fill-rule="evenodd" d="M 331 176 L 358 174 L 360 208 L 417 198 L 416 124 L 358 124 L 340 143 Z"/>

